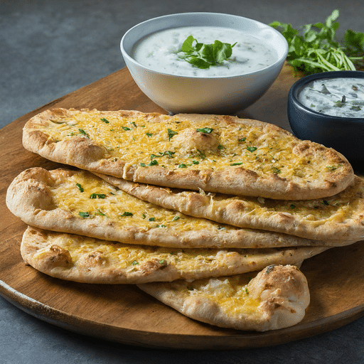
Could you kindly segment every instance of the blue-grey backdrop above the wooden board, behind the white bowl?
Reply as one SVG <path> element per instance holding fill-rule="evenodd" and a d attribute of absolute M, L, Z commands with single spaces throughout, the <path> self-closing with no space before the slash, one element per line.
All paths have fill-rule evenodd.
<path fill-rule="evenodd" d="M 363 0 L 6 0 L 0 4 L 0 127 L 123 68 L 119 50 L 123 34 L 156 16 L 211 11 L 298 27 L 323 22 L 339 9 L 339 35 L 346 28 L 364 31 Z"/>

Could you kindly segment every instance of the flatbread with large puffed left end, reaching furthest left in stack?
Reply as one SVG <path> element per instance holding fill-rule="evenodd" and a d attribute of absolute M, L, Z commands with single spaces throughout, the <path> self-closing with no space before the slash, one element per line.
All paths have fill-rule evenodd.
<path fill-rule="evenodd" d="M 23 171 L 9 186 L 6 204 L 31 226 L 129 244 L 250 248 L 323 245 L 166 210 L 131 196 L 90 172 L 65 168 Z"/>

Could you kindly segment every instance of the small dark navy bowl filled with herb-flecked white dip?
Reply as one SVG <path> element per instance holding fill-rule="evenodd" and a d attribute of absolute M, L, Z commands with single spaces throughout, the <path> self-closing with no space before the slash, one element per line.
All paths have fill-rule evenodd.
<path fill-rule="evenodd" d="M 299 139 L 364 161 L 364 72 L 333 71 L 302 77 L 289 90 L 288 119 Z"/>

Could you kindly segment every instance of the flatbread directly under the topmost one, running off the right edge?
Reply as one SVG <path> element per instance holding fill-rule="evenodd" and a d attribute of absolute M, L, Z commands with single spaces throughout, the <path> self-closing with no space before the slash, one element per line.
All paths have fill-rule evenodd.
<path fill-rule="evenodd" d="M 358 176 L 346 190 L 315 200 L 196 193 L 132 183 L 100 173 L 97 176 L 142 200 L 217 223 L 306 237 L 326 246 L 364 239 L 364 179 Z"/>

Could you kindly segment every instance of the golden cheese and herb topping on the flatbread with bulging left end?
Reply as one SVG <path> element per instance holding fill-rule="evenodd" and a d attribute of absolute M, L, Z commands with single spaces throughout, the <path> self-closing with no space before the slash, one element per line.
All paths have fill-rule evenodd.
<path fill-rule="evenodd" d="M 139 200 L 87 171 L 77 171 L 55 181 L 50 191 L 56 207 L 80 219 L 99 217 L 119 226 L 137 226 L 144 231 L 151 228 L 176 231 L 237 229 Z"/>

